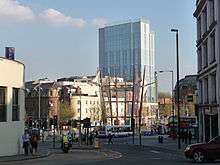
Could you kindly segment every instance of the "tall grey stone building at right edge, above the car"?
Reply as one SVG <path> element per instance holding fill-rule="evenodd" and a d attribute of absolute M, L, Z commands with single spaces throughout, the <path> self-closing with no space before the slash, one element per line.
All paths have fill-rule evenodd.
<path fill-rule="evenodd" d="M 200 141 L 220 135 L 220 1 L 197 0 Z"/>

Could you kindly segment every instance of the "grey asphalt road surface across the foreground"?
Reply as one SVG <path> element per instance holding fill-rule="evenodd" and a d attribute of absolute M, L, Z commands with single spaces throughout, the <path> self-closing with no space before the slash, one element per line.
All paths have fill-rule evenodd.
<path fill-rule="evenodd" d="M 64 154 L 57 151 L 49 157 L 26 160 L 19 162 L 1 163 L 1 165 L 183 165 L 193 164 L 192 161 L 185 159 L 179 152 L 169 152 L 163 148 L 152 146 L 133 146 L 118 143 L 115 140 L 113 145 L 103 144 L 103 150 L 73 150 L 71 153 Z M 114 151 L 108 154 L 107 151 Z M 113 154 L 112 154 L 113 153 Z M 115 153 L 115 154 L 114 154 Z M 220 162 L 207 163 L 219 164 Z"/>

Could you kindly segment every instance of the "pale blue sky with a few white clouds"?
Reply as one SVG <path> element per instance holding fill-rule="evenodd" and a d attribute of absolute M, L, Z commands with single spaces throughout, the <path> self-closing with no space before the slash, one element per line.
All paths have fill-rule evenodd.
<path fill-rule="evenodd" d="M 170 29 L 179 29 L 183 78 L 197 69 L 194 10 L 195 0 L 0 0 L 0 55 L 4 47 L 15 47 L 26 81 L 94 75 L 98 28 L 145 18 L 156 34 L 156 70 L 174 70 L 175 75 L 175 35 Z M 159 91 L 170 91 L 169 73 L 159 74 L 158 82 Z"/>

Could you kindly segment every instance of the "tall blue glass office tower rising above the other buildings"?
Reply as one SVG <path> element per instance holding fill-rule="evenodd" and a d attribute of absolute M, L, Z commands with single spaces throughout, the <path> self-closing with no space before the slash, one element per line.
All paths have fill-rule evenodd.
<path fill-rule="evenodd" d="M 154 33 L 143 19 L 99 29 L 99 68 L 102 75 L 122 77 L 127 81 L 142 79 L 146 67 L 146 83 L 154 82 Z M 155 84 L 146 87 L 145 99 L 155 102 Z"/>

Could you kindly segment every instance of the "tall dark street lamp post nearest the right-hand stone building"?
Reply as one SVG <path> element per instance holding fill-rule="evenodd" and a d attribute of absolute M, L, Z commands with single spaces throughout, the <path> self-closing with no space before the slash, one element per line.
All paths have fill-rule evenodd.
<path fill-rule="evenodd" d="M 176 83 L 176 93 L 177 93 L 177 114 L 178 114 L 178 148 L 181 148 L 180 144 L 180 102 L 179 102 L 179 38 L 178 29 L 171 29 L 171 32 L 176 33 L 176 65 L 177 65 L 177 83 Z"/>

